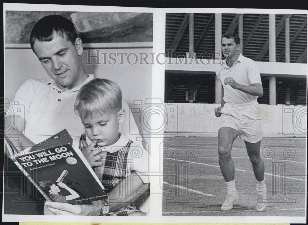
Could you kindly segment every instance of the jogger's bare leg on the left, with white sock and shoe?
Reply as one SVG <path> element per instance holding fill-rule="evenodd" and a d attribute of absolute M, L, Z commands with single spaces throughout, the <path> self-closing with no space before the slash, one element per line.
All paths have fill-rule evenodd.
<path fill-rule="evenodd" d="M 239 132 L 231 127 L 221 127 L 218 131 L 219 166 L 228 190 L 226 200 L 222 204 L 221 210 L 232 209 L 233 204 L 238 199 L 234 181 L 234 163 L 231 158 L 233 141 L 238 135 Z"/>

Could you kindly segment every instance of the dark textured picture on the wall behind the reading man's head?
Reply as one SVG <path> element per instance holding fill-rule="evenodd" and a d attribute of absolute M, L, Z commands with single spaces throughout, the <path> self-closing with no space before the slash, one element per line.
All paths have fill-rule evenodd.
<path fill-rule="evenodd" d="M 47 15 L 70 19 L 83 43 L 152 42 L 152 13 L 6 11 L 6 44 L 30 43 L 34 24 Z"/>

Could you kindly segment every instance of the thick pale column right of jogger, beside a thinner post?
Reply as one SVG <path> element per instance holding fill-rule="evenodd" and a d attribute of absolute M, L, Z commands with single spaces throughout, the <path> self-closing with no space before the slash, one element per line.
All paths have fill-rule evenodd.
<path fill-rule="evenodd" d="M 268 49 L 270 62 L 276 61 L 276 32 L 275 32 L 276 16 L 269 14 L 269 39 Z M 276 77 L 270 77 L 270 105 L 276 105 Z"/>

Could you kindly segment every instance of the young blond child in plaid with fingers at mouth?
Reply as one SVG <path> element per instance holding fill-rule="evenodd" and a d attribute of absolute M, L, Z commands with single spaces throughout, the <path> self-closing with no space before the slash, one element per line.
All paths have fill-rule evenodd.
<path fill-rule="evenodd" d="M 106 193 L 133 171 L 149 183 L 148 152 L 119 133 L 126 112 L 122 109 L 122 91 L 115 82 L 91 80 L 79 90 L 74 109 L 85 129 L 74 145 L 78 145 Z M 111 214 L 130 215 L 138 211 L 130 204 Z"/>

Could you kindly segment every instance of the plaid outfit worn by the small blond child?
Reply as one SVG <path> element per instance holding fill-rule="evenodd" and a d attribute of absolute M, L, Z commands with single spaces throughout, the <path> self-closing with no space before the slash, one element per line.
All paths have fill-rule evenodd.
<path fill-rule="evenodd" d="M 132 140 L 116 152 L 101 152 L 102 165 L 94 167 L 94 172 L 102 182 L 104 186 L 104 191 L 108 193 L 115 185 L 117 185 L 121 180 L 125 178 L 126 168 L 127 168 L 127 156 L 130 149 Z M 83 133 L 79 139 L 79 149 L 82 152 L 88 147 L 86 140 L 86 133 Z M 108 215 L 116 216 L 128 216 L 135 212 L 140 212 L 136 209 L 134 204 L 129 204 L 113 212 L 109 212 Z"/>

